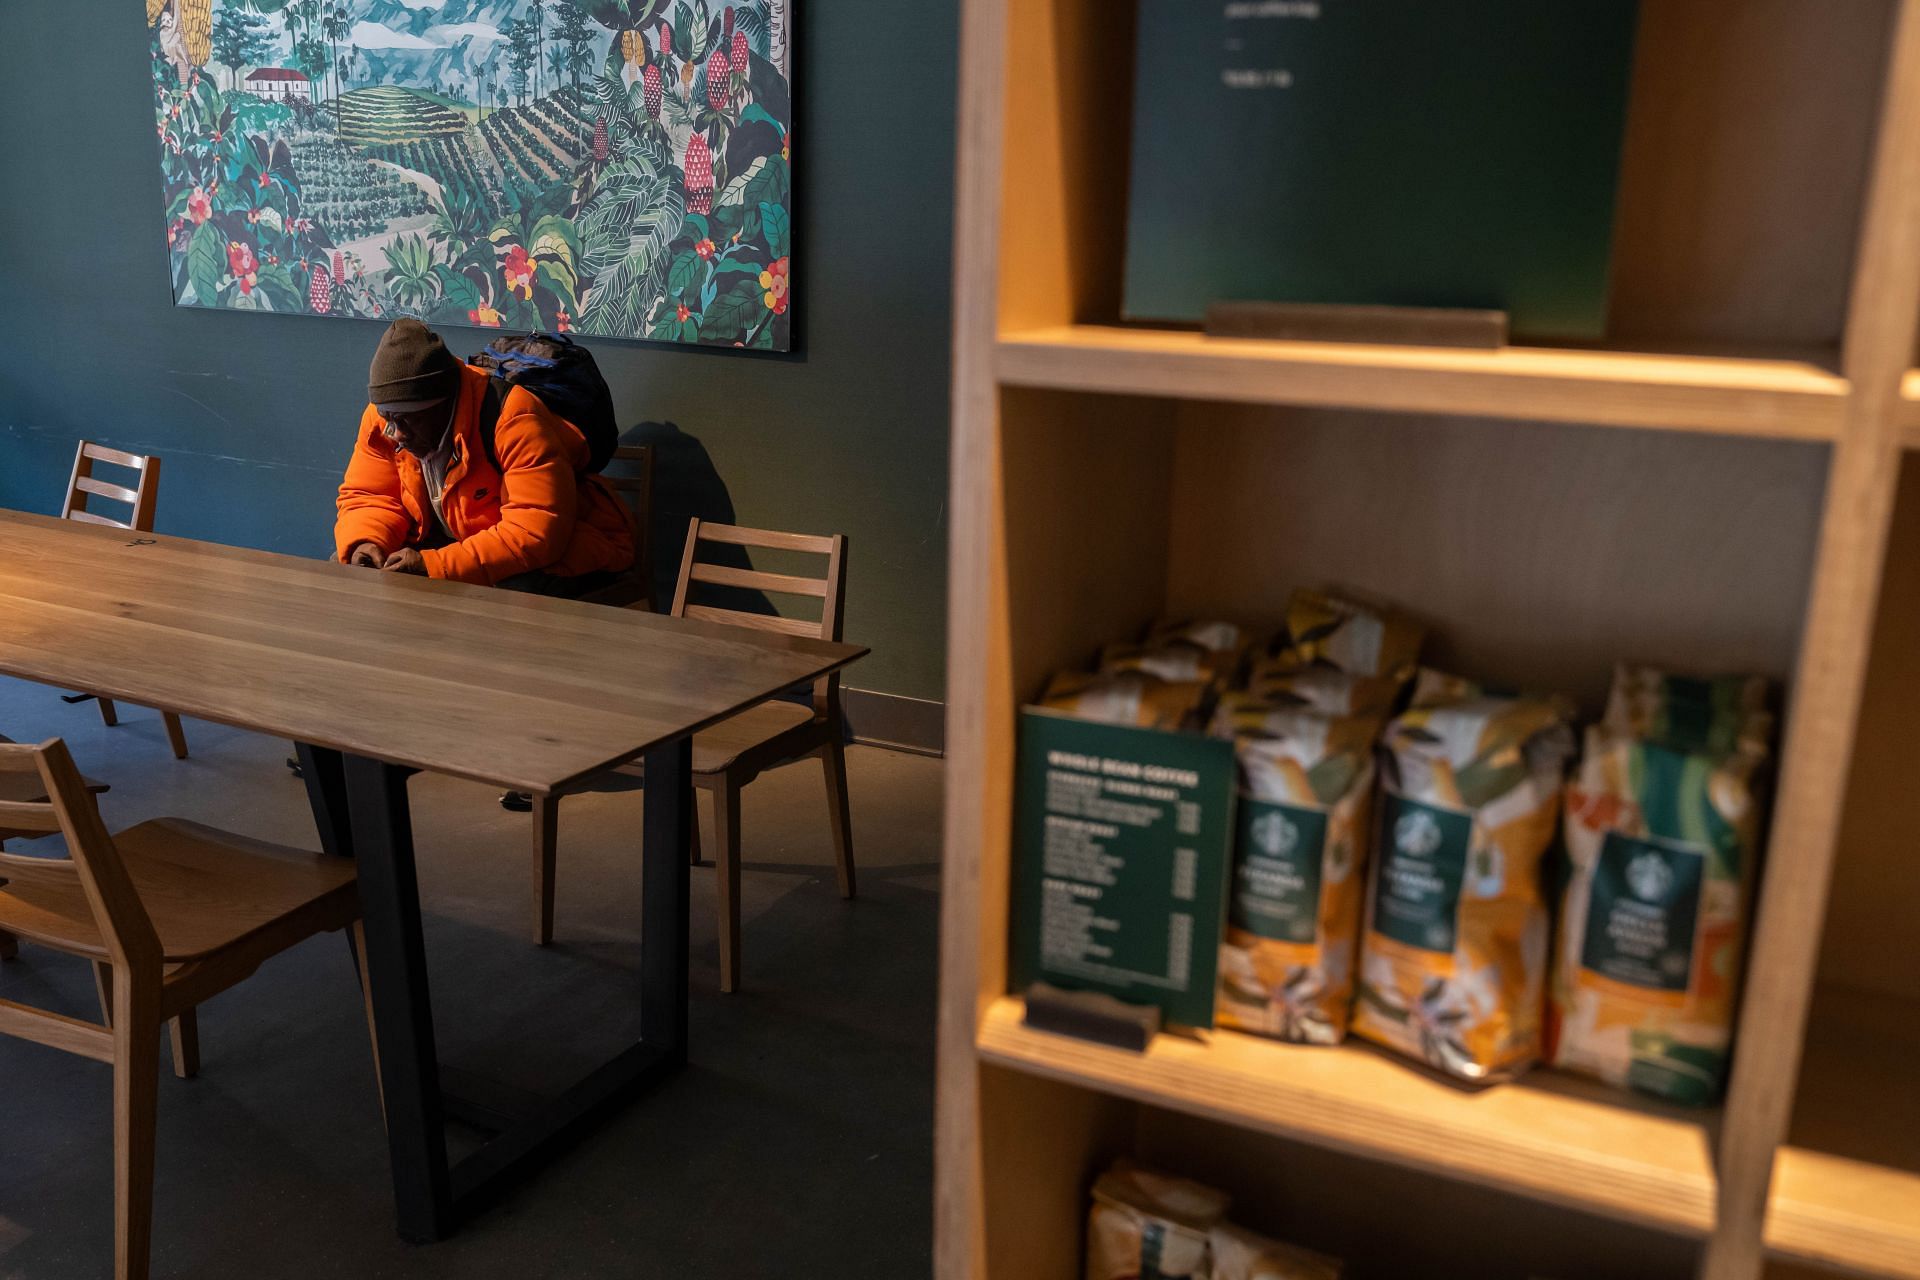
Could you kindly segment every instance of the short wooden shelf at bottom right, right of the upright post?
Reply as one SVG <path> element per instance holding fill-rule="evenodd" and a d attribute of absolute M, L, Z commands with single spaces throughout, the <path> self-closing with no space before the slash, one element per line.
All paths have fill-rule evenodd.
<path fill-rule="evenodd" d="M 1766 1247 L 1778 1257 L 1920 1280 L 1920 1009 L 1822 986 L 1799 1107 L 1774 1159 Z"/>

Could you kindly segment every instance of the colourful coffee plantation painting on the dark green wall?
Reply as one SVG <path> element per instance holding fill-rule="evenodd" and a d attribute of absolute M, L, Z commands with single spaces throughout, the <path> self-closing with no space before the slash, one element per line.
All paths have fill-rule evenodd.
<path fill-rule="evenodd" d="M 789 349 L 793 0 L 144 0 L 182 307 Z"/>

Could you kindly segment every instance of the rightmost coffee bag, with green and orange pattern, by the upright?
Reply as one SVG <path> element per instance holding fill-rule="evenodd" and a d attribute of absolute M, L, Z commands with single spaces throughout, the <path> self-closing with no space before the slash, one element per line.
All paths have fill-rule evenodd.
<path fill-rule="evenodd" d="M 1770 756 L 1763 679 L 1615 674 L 1567 787 L 1557 1067 L 1709 1103 L 1726 1080 Z"/>

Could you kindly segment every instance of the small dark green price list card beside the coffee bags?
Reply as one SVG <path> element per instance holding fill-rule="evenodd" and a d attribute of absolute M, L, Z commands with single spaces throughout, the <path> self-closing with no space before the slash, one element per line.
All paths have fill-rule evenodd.
<path fill-rule="evenodd" d="M 1014 988 L 1050 983 L 1213 1025 L 1233 743 L 1020 716 Z"/>

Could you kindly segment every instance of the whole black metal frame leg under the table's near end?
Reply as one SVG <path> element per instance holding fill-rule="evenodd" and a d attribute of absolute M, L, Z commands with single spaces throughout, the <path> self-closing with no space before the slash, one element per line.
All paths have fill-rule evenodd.
<path fill-rule="evenodd" d="M 407 810 L 411 770 L 305 745 L 298 750 L 321 846 L 359 860 L 399 1234 L 415 1244 L 442 1240 L 611 1109 L 685 1065 L 693 748 L 682 739 L 647 752 L 639 1042 L 561 1094 L 534 1100 L 459 1071 L 449 1079 L 468 1080 L 480 1098 L 442 1094 Z M 453 1167 L 449 1113 L 499 1130 Z"/>

